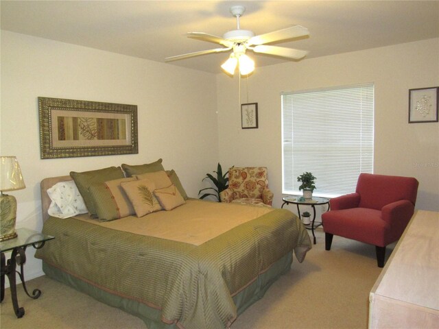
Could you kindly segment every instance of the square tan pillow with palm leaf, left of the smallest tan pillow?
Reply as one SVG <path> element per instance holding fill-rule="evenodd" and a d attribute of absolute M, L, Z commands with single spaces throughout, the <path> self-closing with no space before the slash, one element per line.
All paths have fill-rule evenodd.
<path fill-rule="evenodd" d="M 121 186 L 123 191 L 128 195 L 137 217 L 162 210 L 162 207 L 154 196 L 153 192 L 156 186 L 151 180 L 134 180 L 134 182 L 124 182 Z"/>

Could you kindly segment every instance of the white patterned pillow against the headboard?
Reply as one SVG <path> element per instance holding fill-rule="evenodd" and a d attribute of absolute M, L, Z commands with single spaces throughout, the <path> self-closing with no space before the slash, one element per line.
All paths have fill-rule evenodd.
<path fill-rule="evenodd" d="M 84 199 L 73 180 L 56 183 L 47 189 L 47 194 L 52 200 L 47 210 L 51 216 L 67 218 L 88 212 Z"/>

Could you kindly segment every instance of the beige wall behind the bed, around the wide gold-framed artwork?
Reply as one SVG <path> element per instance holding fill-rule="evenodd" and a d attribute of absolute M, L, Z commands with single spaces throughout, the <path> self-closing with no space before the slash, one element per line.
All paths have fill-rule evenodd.
<path fill-rule="evenodd" d="M 10 193 L 16 227 L 41 230 L 40 180 L 71 170 L 163 158 L 197 197 L 218 161 L 215 84 L 211 73 L 2 31 L 0 154 L 18 158 L 27 186 Z M 137 105 L 139 154 L 40 160 L 38 96 Z M 26 277 L 41 275 L 27 254 Z"/>

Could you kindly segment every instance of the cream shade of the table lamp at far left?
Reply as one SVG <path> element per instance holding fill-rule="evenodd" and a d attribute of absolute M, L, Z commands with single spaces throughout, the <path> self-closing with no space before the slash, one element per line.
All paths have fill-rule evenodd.
<path fill-rule="evenodd" d="M 0 191 L 14 191 L 25 188 L 19 162 L 15 156 L 0 156 Z"/>

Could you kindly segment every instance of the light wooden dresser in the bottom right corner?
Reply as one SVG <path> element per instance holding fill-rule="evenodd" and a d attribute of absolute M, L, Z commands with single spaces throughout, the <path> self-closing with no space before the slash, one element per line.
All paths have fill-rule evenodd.
<path fill-rule="evenodd" d="M 410 220 L 370 292 L 369 328 L 439 328 L 439 212 Z"/>

